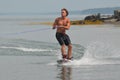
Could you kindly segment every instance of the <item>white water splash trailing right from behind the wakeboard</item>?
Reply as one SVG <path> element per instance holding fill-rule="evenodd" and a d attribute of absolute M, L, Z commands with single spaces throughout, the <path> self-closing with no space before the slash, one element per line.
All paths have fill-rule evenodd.
<path fill-rule="evenodd" d="M 62 65 L 107 65 L 120 64 L 120 50 L 106 43 L 94 42 L 88 45 L 81 59 L 73 60 Z"/>

